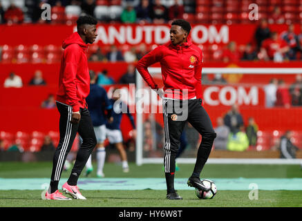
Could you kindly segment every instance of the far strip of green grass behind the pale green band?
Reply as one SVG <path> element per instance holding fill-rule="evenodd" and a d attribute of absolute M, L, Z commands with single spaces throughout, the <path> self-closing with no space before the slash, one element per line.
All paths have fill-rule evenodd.
<path fill-rule="evenodd" d="M 96 177 L 95 170 L 91 177 Z M 179 164 L 180 171 L 176 172 L 176 177 L 189 177 L 193 164 Z M 120 164 L 108 163 L 104 166 L 106 177 L 164 177 L 161 164 L 144 164 L 136 166 L 129 164 L 130 173 L 123 173 Z M 2 178 L 39 178 L 50 177 L 52 162 L 0 162 L 0 177 Z M 70 171 L 63 172 L 62 177 L 68 177 Z M 83 175 L 83 173 L 82 173 Z M 302 170 L 299 165 L 238 165 L 238 164 L 206 164 L 202 177 L 217 178 L 291 178 L 302 177 Z"/>

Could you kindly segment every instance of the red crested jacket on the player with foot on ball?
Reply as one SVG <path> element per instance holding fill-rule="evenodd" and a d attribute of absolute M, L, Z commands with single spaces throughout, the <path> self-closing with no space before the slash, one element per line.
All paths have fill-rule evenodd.
<path fill-rule="evenodd" d="M 164 97 L 182 99 L 182 90 L 188 90 L 188 96 L 201 98 L 202 50 L 191 43 L 190 39 L 181 46 L 173 46 L 171 42 L 158 46 L 138 61 L 137 69 L 152 89 L 158 85 L 147 68 L 160 62 Z M 180 93 L 178 93 L 180 90 Z"/>

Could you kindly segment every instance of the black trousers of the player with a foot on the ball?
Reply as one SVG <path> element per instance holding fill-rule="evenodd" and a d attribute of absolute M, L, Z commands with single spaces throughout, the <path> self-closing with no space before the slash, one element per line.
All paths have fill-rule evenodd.
<path fill-rule="evenodd" d="M 180 103 L 179 103 L 180 102 Z M 182 114 L 175 110 L 175 107 L 182 106 L 183 111 L 187 111 L 187 119 L 181 117 Z M 169 108 L 168 108 L 169 106 Z M 185 127 L 185 123 L 189 122 L 202 135 L 202 142 L 198 149 L 198 157 L 196 166 L 202 169 L 211 152 L 216 133 L 211 124 L 209 115 L 200 105 L 198 99 L 189 99 L 186 102 L 179 100 L 164 99 L 163 100 L 163 115 L 164 115 L 164 172 L 175 172 L 175 160 L 180 146 L 180 136 Z M 177 117 L 175 117 L 175 115 Z"/>

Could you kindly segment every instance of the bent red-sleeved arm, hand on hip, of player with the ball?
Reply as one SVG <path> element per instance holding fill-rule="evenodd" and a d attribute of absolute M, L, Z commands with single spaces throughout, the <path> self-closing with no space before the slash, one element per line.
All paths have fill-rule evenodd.
<path fill-rule="evenodd" d="M 160 61 L 160 59 L 162 58 L 161 48 L 162 46 L 158 46 L 154 50 L 151 50 L 151 52 L 149 52 L 147 55 L 144 55 L 144 57 L 142 57 L 142 59 L 138 61 L 138 64 L 136 66 L 144 81 L 146 81 L 147 84 L 154 90 L 158 89 L 158 85 L 155 84 L 153 77 L 151 77 L 148 71 L 148 67 Z"/>

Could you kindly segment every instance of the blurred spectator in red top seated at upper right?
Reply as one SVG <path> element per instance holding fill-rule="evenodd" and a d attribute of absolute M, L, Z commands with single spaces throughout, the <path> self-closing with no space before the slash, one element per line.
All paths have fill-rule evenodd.
<path fill-rule="evenodd" d="M 269 39 L 265 39 L 262 43 L 261 53 L 265 59 L 273 60 L 275 62 L 282 62 L 284 60 L 284 55 L 290 50 L 287 46 L 286 41 L 278 38 L 276 32 L 272 32 Z"/>

